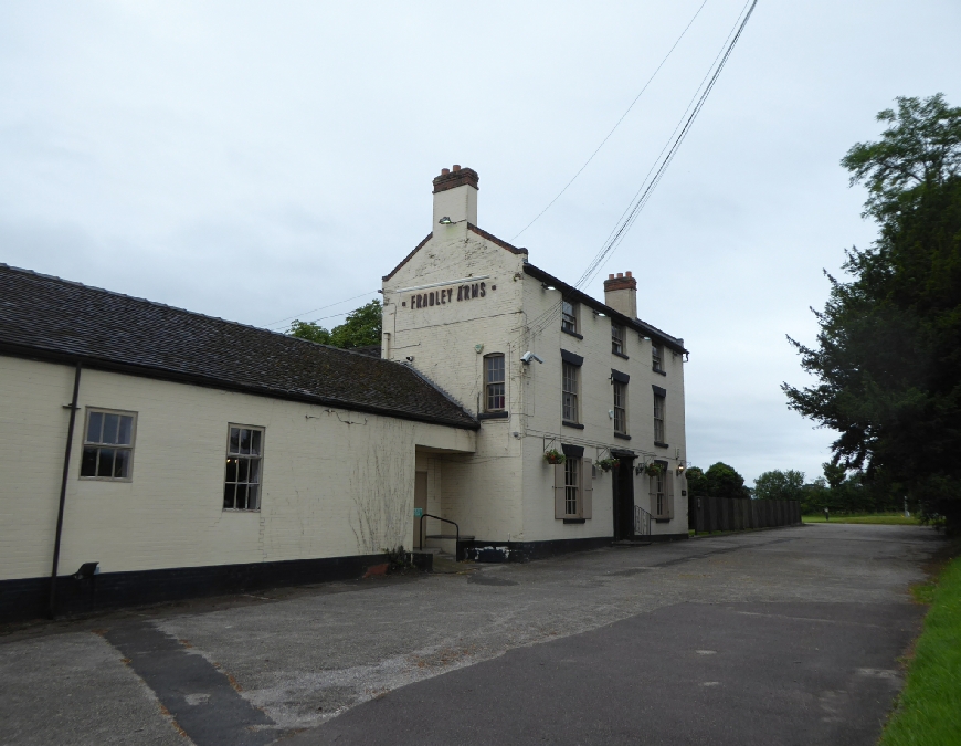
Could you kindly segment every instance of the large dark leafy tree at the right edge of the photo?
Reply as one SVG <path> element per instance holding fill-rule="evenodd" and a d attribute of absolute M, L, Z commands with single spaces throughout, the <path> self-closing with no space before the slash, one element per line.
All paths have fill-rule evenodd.
<path fill-rule="evenodd" d="M 842 160 L 852 185 L 867 186 L 864 216 L 877 221 L 878 238 L 847 252 L 849 282 L 827 275 L 827 304 L 814 312 L 817 346 L 789 337 L 820 383 L 782 388 L 789 407 L 839 433 L 833 465 L 863 470 L 859 483 L 875 503 L 906 495 L 926 515 L 943 515 L 953 533 L 961 528 L 961 108 L 940 94 L 897 103 L 878 114 L 888 125 L 880 140 L 855 145 Z"/>

